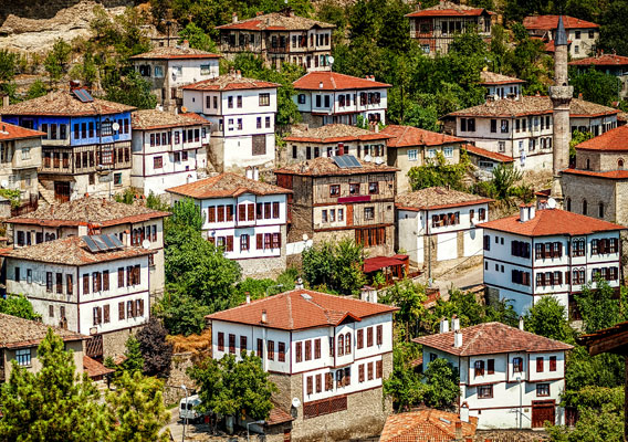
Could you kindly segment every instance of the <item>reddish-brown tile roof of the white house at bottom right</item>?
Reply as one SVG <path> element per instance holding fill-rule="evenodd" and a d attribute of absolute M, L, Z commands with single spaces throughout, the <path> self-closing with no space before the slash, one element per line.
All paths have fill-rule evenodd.
<path fill-rule="evenodd" d="M 494 355 L 500 352 L 538 352 L 569 350 L 573 346 L 520 330 L 502 323 L 484 323 L 461 328 L 462 346 L 453 347 L 454 332 L 412 339 L 417 344 L 456 356 Z"/>

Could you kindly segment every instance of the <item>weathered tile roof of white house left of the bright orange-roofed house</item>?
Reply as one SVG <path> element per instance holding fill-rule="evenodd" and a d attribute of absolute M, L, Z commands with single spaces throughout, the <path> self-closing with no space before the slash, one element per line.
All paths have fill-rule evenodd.
<path fill-rule="evenodd" d="M 444 187 L 429 187 L 414 192 L 398 194 L 395 206 L 406 210 L 435 210 L 452 207 L 482 204 L 493 201 L 473 193 L 447 189 Z"/>

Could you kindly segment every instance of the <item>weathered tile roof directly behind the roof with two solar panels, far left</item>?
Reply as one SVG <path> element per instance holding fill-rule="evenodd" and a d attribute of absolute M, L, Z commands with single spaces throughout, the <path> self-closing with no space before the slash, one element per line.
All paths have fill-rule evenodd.
<path fill-rule="evenodd" d="M 7 220 L 13 224 L 35 225 L 118 225 L 169 217 L 170 213 L 138 204 L 125 204 L 104 198 L 84 197 L 41 207 L 34 212 Z"/>

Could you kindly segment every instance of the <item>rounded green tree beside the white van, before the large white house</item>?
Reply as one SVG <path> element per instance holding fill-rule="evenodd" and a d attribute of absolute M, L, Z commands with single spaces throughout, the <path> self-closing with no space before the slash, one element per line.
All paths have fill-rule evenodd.
<path fill-rule="evenodd" d="M 254 420 L 268 419 L 276 386 L 269 380 L 259 357 L 247 351 L 240 356 L 239 360 L 236 355 L 206 358 L 188 369 L 189 377 L 200 389 L 199 408 L 223 415 L 243 413 Z"/>

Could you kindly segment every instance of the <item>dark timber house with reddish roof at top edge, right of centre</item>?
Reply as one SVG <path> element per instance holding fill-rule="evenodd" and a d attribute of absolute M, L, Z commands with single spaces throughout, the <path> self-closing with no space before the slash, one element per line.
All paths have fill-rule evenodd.
<path fill-rule="evenodd" d="M 410 38 L 426 54 L 447 54 L 457 34 L 473 28 L 483 40 L 491 39 L 491 21 L 495 15 L 484 8 L 472 8 L 447 0 L 406 14 L 410 20 Z"/>

